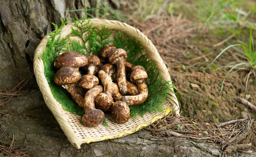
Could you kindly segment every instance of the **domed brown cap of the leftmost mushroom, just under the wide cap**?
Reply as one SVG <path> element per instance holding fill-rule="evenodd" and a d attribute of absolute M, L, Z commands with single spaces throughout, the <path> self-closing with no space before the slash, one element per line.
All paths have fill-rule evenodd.
<path fill-rule="evenodd" d="M 76 68 L 70 66 L 60 68 L 54 76 L 54 82 L 61 86 L 66 84 L 73 84 L 78 82 L 80 79 L 80 72 Z"/>

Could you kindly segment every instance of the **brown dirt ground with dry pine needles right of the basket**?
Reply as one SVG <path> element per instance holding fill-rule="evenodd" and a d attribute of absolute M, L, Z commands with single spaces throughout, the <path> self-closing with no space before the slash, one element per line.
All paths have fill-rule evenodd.
<path fill-rule="evenodd" d="M 229 49 L 211 66 L 214 58 L 228 46 L 226 42 L 222 42 L 232 35 L 228 28 L 222 31 L 209 29 L 184 18 L 182 14 L 170 16 L 161 13 L 148 17 L 145 22 L 136 21 L 133 17 L 130 20 L 132 22 L 129 24 L 140 29 L 156 46 L 169 68 L 173 84 L 178 89 L 175 93 L 180 104 L 180 118 L 174 120 L 169 115 L 146 129 L 155 129 L 151 131 L 156 136 L 166 136 L 166 130 L 182 127 L 180 130 L 187 132 L 178 134 L 180 137 L 216 142 L 222 144 L 223 148 L 231 143 L 252 143 L 252 147 L 247 150 L 255 151 L 256 113 L 236 100 L 241 97 L 256 104 L 255 71 L 250 75 L 245 88 L 245 77 L 249 70 L 235 69 L 226 77 L 220 93 L 221 82 L 230 70 L 229 65 L 245 59 L 234 49 Z M 249 29 L 243 30 L 242 33 L 232 35 L 234 37 L 228 42 L 236 44 L 237 40 L 241 40 L 249 43 Z M 236 142 L 236 137 L 247 126 L 247 114 L 252 118 L 250 132 L 243 141 Z M 217 126 L 219 123 L 237 119 L 245 120 Z"/>

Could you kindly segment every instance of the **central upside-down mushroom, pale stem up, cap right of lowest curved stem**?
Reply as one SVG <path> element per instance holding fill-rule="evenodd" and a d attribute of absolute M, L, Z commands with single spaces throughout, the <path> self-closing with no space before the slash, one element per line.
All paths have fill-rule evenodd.
<path fill-rule="evenodd" d="M 102 85 L 104 86 L 104 93 L 100 93 L 99 95 L 97 95 L 97 97 L 95 98 L 95 106 L 102 111 L 108 111 L 114 102 L 112 97 L 113 82 L 111 80 L 111 77 L 103 70 L 100 70 L 98 72 L 98 77 L 101 80 Z"/>

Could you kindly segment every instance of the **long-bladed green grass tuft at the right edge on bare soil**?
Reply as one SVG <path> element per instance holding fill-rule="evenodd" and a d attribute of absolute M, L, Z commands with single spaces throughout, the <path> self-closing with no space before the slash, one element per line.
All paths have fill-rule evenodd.
<path fill-rule="evenodd" d="M 223 51 L 221 51 L 221 53 L 219 53 L 219 55 L 217 55 L 217 57 L 211 62 L 211 65 L 213 64 L 213 62 L 219 58 L 227 49 L 229 48 L 234 48 L 236 50 L 237 53 L 243 55 L 245 58 L 247 58 L 248 62 L 239 62 L 238 64 L 235 64 L 229 71 L 228 73 L 225 75 L 222 84 L 221 84 L 221 91 L 223 90 L 224 87 L 224 81 L 226 79 L 226 76 L 235 68 L 237 67 L 243 67 L 243 69 L 246 68 L 250 68 L 249 73 L 246 75 L 245 79 L 246 79 L 246 83 L 245 83 L 245 89 L 247 88 L 247 83 L 249 80 L 249 77 L 251 74 L 254 73 L 255 75 L 255 70 L 256 70 L 256 50 L 254 49 L 254 42 L 253 42 L 253 37 L 252 37 L 252 28 L 250 28 L 250 41 L 249 41 L 249 45 L 245 44 L 244 42 L 238 40 L 239 44 L 233 44 L 230 45 L 228 47 L 226 47 Z M 239 49 L 236 48 L 236 46 L 241 46 L 243 48 L 243 51 L 240 51 Z M 221 93 L 220 91 L 220 93 Z"/>

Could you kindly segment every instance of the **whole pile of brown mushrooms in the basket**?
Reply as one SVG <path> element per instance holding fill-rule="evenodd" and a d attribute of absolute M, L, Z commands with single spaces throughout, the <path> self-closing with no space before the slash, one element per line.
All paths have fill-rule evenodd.
<path fill-rule="evenodd" d="M 141 104 L 148 97 L 147 72 L 143 66 L 127 62 L 124 49 L 105 45 L 98 54 L 86 57 L 74 51 L 62 53 L 54 60 L 58 68 L 54 82 L 67 89 L 84 109 L 85 126 L 101 124 L 103 111 L 109 111 L 116 122 L 123 124 L 130 118 L 129 106 Z M 126 73 L 131 73 L 130 81 Z"/>

